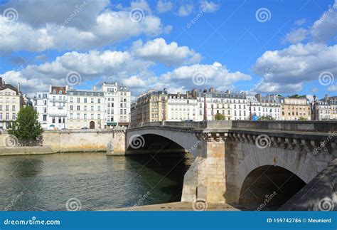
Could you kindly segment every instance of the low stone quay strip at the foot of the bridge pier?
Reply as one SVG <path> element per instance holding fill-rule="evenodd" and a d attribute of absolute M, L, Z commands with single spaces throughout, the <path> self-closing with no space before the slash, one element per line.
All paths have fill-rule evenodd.
<path fill-rule="evenodd" d="M 150 204 L 121 209 L 109 209 L 102 211 L 240 211 L 243 207 L 232 207 L 230 204 L 198 202 L 171 202 L 164 204 Z"/>

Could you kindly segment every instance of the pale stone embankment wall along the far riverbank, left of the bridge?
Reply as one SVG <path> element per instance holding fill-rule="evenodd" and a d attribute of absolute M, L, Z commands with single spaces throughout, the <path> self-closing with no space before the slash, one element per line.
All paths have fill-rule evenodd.
<path fill-rule="evenodd" d="M 6 145 L 6 137 L 8 133 L 2 132 L 1 149 Z M 124 155 L 125 130 L 45 130 L 42 146 L 50 147 L 52 152 L 105 152 L 109 142 L 113 145 L 114 154 Z M 16 149 L 21 152 L 21 148 L 11 147 L 9 152 L 16 152 Z"/>

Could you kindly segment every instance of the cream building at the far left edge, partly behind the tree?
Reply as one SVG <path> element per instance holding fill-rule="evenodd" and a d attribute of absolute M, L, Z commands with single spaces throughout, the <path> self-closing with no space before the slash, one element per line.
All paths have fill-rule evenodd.
<path fill-rule="evenodd" d="M 18 111 L 23 106 L 23 98 L 20 92 L 20 83 L 15 88 L 6 84 L 0 78 L 0 130 L 7 130 L 16 120 Z"/>

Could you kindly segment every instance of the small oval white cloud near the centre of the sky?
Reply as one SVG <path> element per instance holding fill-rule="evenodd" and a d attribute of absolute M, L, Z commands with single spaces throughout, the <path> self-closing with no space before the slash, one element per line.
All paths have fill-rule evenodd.
<path fill-rule="evenodd" d="M 139 58 L 160 61 L 167 66 L 198 63 L 201 59 L 200 53 L 187 46 L 178 46 L 176 42 L 166 43 L 164 38 L 156 38 L 145 44 L 141 40 L 135 41 L 132 52 Z"/>

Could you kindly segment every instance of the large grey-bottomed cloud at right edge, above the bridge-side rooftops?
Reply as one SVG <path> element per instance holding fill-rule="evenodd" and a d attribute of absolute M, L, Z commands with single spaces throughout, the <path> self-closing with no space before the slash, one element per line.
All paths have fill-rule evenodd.
<path fill-rule="evenodd" d="M 255 73 L 264 75 L 257 90 L 265 93 L 295 92 L 301 90 L 306 81 L 318 82 L 323 71 L 336 75 L 336 53 L 337 45 L 322 43 L 298 43 L 282 51 L 267 51 L 252 66 Z"/>

